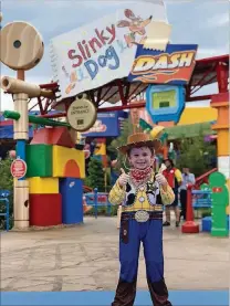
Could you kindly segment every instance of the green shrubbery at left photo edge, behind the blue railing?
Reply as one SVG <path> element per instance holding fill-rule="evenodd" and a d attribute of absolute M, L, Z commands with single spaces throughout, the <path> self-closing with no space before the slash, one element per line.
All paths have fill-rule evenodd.
<path fill-rule="evenodd" d="M 12 228 L 13 213 L 13 178 L 10 172 L 11 159 L 0 160 L 0 190 L 10 191 L 10 228 Z M 0 213 L 6 213 L 6 203 L 0 201 Z M 6 229 L 6 218 L 0 217 L 0 230 Z"/>

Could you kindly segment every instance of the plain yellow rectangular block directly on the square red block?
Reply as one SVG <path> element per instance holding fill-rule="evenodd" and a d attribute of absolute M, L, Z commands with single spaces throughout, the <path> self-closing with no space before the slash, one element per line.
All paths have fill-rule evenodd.
<path fill-rule="evenodd" d="M 29 178 L 30 193 L 59 193 L 58 178 Z"/>

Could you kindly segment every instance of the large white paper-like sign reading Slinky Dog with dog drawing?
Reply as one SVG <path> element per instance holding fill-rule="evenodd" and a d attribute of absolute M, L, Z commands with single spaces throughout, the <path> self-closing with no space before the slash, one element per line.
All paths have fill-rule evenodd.
<path fill-rule="evenodd" d="M 62 97 L 127 77 L 151 21 L 167 22 L 163 0 L 127 2 L 125 9 L 52 39 L 53 80 Z"/>

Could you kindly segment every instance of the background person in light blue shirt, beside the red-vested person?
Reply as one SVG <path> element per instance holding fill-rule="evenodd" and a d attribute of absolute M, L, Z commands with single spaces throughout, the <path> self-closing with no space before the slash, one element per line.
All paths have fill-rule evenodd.
<path fill-rule="evenodd" d="M 181 212 L 180 217 L 186 220 L 186 212 L 187 212 L 187 186 L 195 184 L 195 175 L 190 173 L 188 167 L 182 168 L 182 183 L 180 186 L 180 204 L 181 204 Z"/>

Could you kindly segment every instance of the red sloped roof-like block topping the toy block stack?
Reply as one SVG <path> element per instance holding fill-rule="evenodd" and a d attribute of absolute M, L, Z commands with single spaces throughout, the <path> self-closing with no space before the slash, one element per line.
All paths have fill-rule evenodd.
<path fill-rule="evenodd" d="M 40 128 L 34 130 L 31 145 L 56 145 L 67 148 L 74 147 L 74 141 L 66 127 Z"/>

